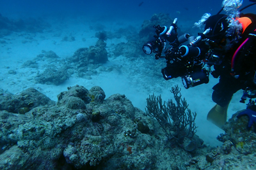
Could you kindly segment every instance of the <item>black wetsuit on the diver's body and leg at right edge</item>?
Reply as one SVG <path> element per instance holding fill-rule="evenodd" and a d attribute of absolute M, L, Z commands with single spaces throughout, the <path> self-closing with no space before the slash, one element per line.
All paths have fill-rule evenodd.
<path fill-rule="evenodd" d="M 234 93 L 240 89 L 246 89 L 249 87 L 252 90 L 256 90 L 255 82 L 253 82 L 256 70 L 256 37 L 253 35 L 256 29 L 255 15 L 247 15 L 252 20 L 252 24 L 249 25 L 239 43 L 230 49 L 225 55 L 225 59 L 220 64 L 220 66 L 214 66 L 217 75 L 220 76 L 220 81 L 212 88 L 214 92 L 212 93 L 212 101 L 219 104 L 220 106 L 227 106 L 230 102 Z M 247 17 L 245 16 L 245 17 Z M 244 16 L 243 16 L 244 17 Z M 250 34 L 253 33 L 253 34 Z M 249 35 L 249 36 L 248 36 Z M 234 64 L 235 72 L 239 75 L 235 78 L 230 74 L 231 71 L 231 60 L 236 49 L 244 42 L 246 38 L 250 38 L 250 41 L 245 43 L 243 48 L 239 50 L 237 54 L 237 59 Z"/>

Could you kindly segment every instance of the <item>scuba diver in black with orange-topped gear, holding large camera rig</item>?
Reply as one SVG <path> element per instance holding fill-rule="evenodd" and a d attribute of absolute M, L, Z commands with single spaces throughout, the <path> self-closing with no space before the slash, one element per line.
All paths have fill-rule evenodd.
<path fill-rule="evenodd" d="M 250 0 L 255 2 L 255 0 Z M 209 74 L 220 78 L 212 88 L 212 101 L 216 103 L 207 115 L 207 120 L 218 127 L 227 121 L 227 109 L 232 96 L 243 89 L 241 103 L 249 98 L 246 110 L 237 118 L 248 116 L 248 129 L 256 123 L 256 15 L 243 14 L 241 11 L 256 3 L 237 10 L 242 0 L 224 0 L 223 8 L 216 14 L 205 13 L 198 23 L 204 26 L 204 32 L 197 37 L 184 34 L 177 36 L 177 18 L 170 29 L 166 26 L 154 26 L 157 36 L 143 45 L 146 54 L 156 53 L 156 59 L 166 59 L 162 69 L 163 78 L 170 80 L 181 77 L 186 89 L 209 82 Z M 221 11 L 227 14 L 220 14 Z M 170 48 L 161 56 L 169 41 Z M 187 43 L 187 45 L 183 45 Z M 214 70 L 211 71 L 211 67 Z"/>

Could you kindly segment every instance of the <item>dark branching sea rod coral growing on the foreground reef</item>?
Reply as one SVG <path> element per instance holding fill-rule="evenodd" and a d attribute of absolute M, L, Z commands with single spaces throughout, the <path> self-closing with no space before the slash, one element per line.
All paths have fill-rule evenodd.
<path fill-rule="evenodd" d="M 182 143 L 185 137 L 191 139 L 196 132 L 196 113 L 188 109 L 185 98 L 181 99 L 178 86 L 172 87 L 170 91 L 176 104 L 172 100 L 163 103 L 161 96 L 153 94 L 147 98 L 146 113 L 156 118 L 169 140 Z"/>

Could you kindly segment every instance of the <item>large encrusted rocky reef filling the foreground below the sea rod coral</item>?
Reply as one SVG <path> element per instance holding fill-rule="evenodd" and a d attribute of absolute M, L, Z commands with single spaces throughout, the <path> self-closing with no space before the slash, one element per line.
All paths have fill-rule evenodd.
<path fill-rule="evenodd" d="M 22 98 L 23 97 L 23 98 Z M 123 94 L 68 87 L 55 103 L 35 89 L 1 90 L 1 169 L 253 169 L 255 132 L 246 117 L 225 124 L 218 148 L 173 145 L 157 120 Z M 29 103 L 33 103 L 30 106 Z M 7 105 L 15 109 L 3 107 Z M 13 104 L 13 105 L 12 105 Z M 19 108 L 29 106 L 19 113 Z M 238 113 L 237 113 L 238 114 Z"/>

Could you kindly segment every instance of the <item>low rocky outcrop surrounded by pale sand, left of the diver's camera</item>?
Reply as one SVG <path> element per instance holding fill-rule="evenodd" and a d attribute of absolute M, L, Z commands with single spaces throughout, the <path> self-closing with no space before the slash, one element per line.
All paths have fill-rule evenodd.
<path fill-rule="evenodd" d="M 60 85 L 75 73 L 78 77 L 91 79 L 90 76 L 97 74 L 95 68 L 107 61 L 106 42 L 98 39 L 94 46 L 79 48 L 72 57 L 66 59 L 61 59 L 52 50 L 42 50 L 34 59 L 24 62 L 22 68 L 31 68 L 36 72 L 35 83 Z M 16 72 L 10 70 L 8 74 Z"/>

